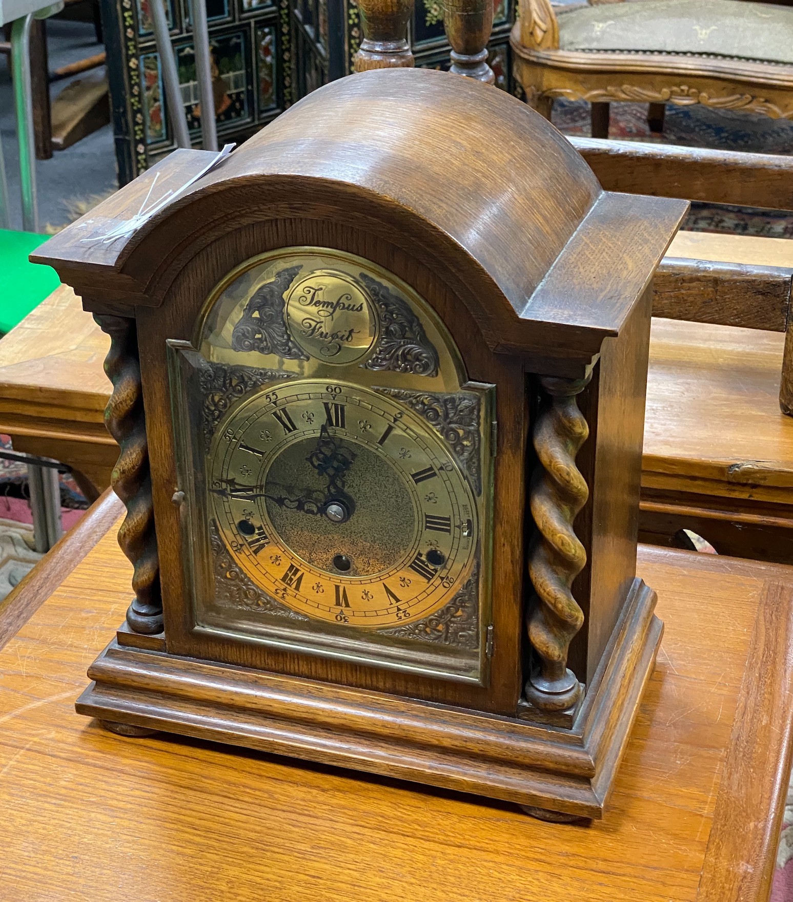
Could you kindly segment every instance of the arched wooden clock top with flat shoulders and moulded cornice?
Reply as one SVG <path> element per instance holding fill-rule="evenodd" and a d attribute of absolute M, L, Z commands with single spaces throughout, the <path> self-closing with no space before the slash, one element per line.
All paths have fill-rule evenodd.
<path fill-rule="evenodd" d="M 491 348 L 585 359 L 619 333 L 686 211 L 603 191 L 542 116 L 432 69 L 341 78 L 201 175 L 213 159 L 173 152 L 31 259 L 86 308 L 157 307 L 224 235 L 322 220 L 430 267 Z"/>

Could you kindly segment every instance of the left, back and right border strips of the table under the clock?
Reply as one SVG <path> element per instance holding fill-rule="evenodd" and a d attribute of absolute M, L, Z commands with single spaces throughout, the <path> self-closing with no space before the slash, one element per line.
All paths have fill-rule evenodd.
<path fill-rule="evenodd" d="M 0 649 L 117 523 L 107 490 L 0 602 Z M 697 902 L 766 902 L 793 757 L 793 566 L 639 546 L 639 564 L 762 580 Z M 573 828 L 571 828 L 573 829 Z"/>

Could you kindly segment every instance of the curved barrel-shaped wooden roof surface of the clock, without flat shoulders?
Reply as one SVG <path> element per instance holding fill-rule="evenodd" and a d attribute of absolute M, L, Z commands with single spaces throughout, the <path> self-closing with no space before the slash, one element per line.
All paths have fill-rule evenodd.
<path fill-rule="evenodd" d="M 602 193 L 541 115 L 434 69 L 321 87 L 243 144 L 227 173 L 335 179 L 391 198 L 468 250 L 518 309 Z"/>

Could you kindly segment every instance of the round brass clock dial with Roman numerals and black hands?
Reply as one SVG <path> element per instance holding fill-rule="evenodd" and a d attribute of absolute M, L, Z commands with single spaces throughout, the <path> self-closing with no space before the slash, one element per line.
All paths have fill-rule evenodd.
<path fill-rule="evenodd" d="M 385 393 L 327 379 L 259 391 L 220 424 L 208 473 L 238 566 L 311 618 L 417 621 L 471 573 L 469 484 L 437 432 Z"/>

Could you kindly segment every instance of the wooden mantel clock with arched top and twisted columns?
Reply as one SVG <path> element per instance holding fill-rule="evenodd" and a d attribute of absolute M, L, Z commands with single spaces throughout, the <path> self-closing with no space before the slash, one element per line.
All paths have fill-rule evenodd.
<path fill-rule="evenodd" d="M 650 283 L 686 204 L 419 69 L 213 161 L 34 255 L 112 338 L 135 568 L 79 713 L 601 816 L 661 635 Z"/>

